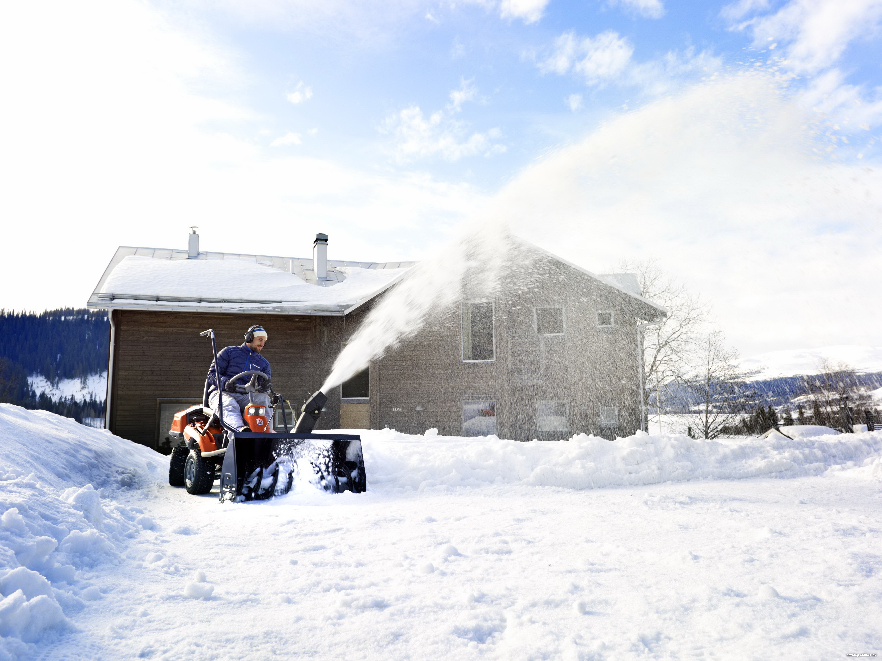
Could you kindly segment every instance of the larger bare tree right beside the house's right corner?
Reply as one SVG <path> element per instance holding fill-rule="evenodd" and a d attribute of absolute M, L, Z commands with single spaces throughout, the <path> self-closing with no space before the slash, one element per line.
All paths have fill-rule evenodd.
<path fill-rule="evenodd" d="M 699 345 L 699 333 L 708 320 L 707 305 L 698 296 L 662 271 L 654 259 L 623 260 L 617 271 L 637 276 L 640 295 L 668 309 L 659 323 L 648 324 L 640 333 L 643 350 L 644 401 L 653 399 L 661 411 L 662 390 L 683 374 L 691 353 Z"/>

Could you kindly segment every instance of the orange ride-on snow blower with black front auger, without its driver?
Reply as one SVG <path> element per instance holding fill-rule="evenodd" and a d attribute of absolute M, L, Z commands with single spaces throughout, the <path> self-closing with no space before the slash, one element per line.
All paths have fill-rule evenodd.
<path fill-rule="evenodd" d="M 217 345 L 214 331 L 199 333 L 212 340 L 214 376 L 217 371 Z M 235 375 L 231 382 L 250 376 L 237 392 L 253 393 L 266 383 L 262 372 L 249 370 Z M 261 383 L 263 382 L 263 384 Z M 272 391 L 272 390 L 271 390 Z M 221 390 L 220 397 L 224 396 Z M 250 400 L 249 400 L 250 401 Z M 288 432 L 284 400 L 273 392 L 271 403 L 282 405 L 285 433 L 273 431 L 273 420 L 266 406 L 249 404 L 243 419 L 250 431 L 230 427 L 219 413 L 208 408 L 208 382 L 202 405 L 176 413 L 171 435 L 183 438 L 183 445 L 172 449 L 168 464 L 168 484 L 186 486 L 191 494 L 207 494 L 215 479 L 221 479 L 221 501 L 258 501 L 287 494 L 297 480 L 310 480 L 325 491 L 362 493 L 367 488 L 362 455 L 362 437 L 355 434 L 312 434 L 327 397 L 320 390 L 303 405 L 294 431 Z"/>

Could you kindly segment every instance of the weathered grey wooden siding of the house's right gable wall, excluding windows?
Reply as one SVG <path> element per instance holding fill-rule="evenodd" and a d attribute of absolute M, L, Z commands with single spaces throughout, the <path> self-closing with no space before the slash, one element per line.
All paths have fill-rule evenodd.
<path fill-rule="evenodd" d="M 500 281 L 495 305 L 495 354 L 490 362 L 461 360 L 460 306 L 432 317 L 371 365 L 371 427 L 422 434 L 463 433 L 463 401 L 496 402 L 497 435 L 528 441 L 552 440 L 579 432 L 614 438 L 639 429 L 639 314 L 646 314 L 621 291 L 553 259 L 529 270 L 512 269 Z M 532 274 L 539 273 L 538 276 Z M 480 291 L 463 300 L 486 300 Z M 535 309 L 564 308 L 564 334 L 541 336 Z M 613 328 L 598 328 L 596 314 L 612 310 Z M 540 400 L 567 403 L 569 432 L 539 432 Z M 615 427 L 600 424 L 600 409 L 614 405 Z M 422 410 L 418 410 L 418 408 Z"/>

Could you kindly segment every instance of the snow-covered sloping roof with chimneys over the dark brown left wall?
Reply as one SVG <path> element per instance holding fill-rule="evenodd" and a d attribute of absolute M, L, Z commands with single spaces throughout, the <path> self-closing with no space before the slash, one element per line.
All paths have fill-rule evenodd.
<path fill-rule="evenodd" d="M 88 307 L 342 316 L 414 264 L 328 260 L 318 279 L 309 258 L 121 246 Z"/>

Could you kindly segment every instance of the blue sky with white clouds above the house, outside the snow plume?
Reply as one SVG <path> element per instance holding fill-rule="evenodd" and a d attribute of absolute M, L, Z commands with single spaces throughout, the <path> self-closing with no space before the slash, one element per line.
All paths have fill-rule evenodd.
<path fill-rule="evenodd" d="M 0 276 L 27 286 L 4 287 L 0 306 L 82 305 L 116 246 L 183 247 L 191 225 L 206 249 L 308 256 L 323 231 L 332 257 L 420 258 L 549 154 L 754 69 L 789 80 L 800 122 L 831 127 L 839 160 L 823 166 L 833 179 L 863 177 L 875 210 L 880 25 L 882 0 L 5 4 Z M 837 227 L 843 246 L 861 248 L 814 271 L 840 272 L 882 248 L 882 221 L 860 204 L 804 231 L 782 223 L 781 236 L 807 234 L 808 254 Z M 869 326 L 815 332 L 805 319 L 759 337 L 743 320 L 763 310 L 735 284 L 707 279 L 710 266 L 676 249 L 652 253 L 650 227 L 663 222 L 647 216 L 635 254 L 608 233 L 609 249 L 584 265 L 660 258 L 714 303 L 746 353 L 878 342 Z M 713 227 L 662 230 L 705 252 L 728 240 Z M 742 239 L 762 242 L 748 230 Z M 787 268 L 780 255 L 763 259 L 808 269 L 792 255 Z M 869 292 L 840 276 L 822 298 L 858 308 Z M 727 316 L 733 298 L 744 302 Z"/>

